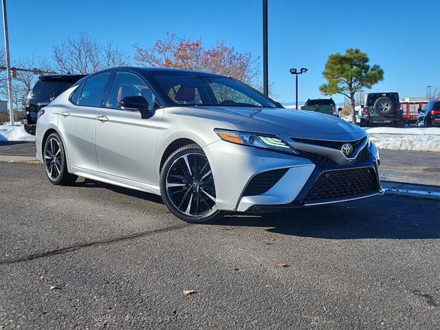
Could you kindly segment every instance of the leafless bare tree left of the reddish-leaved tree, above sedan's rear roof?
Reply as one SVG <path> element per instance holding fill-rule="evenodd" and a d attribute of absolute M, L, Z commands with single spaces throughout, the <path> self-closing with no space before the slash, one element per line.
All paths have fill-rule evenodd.
<path fill-rule="evenodd" d="M 88 34 L 78 39 L 67 39 L 53 46 L 53 57 L 58 72 L 90 74 L 107 67 L 129 65 L 129 56 L 112 43 L 102 45 Z"/>

